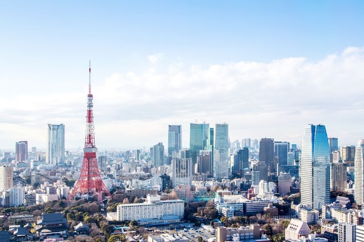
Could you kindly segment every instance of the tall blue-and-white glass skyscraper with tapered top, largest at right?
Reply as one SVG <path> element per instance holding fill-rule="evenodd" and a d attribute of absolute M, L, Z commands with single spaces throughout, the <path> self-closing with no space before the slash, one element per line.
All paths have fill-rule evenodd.
<path fill-rule="evenodd" d="M 301 203 L 321 210 L 330 203 L 330 149 L 325 125 L 309 124 L 301 153 Z"/>

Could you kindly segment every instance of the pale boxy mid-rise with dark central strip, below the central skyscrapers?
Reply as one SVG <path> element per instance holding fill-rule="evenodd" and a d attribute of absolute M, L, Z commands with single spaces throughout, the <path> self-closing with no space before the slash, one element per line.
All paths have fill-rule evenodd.
<path fill-rule="evenodd" d="M 192 159 L 172 159 L 172 186 L 180 184 L 191 185 L 192 183 Z"/>

